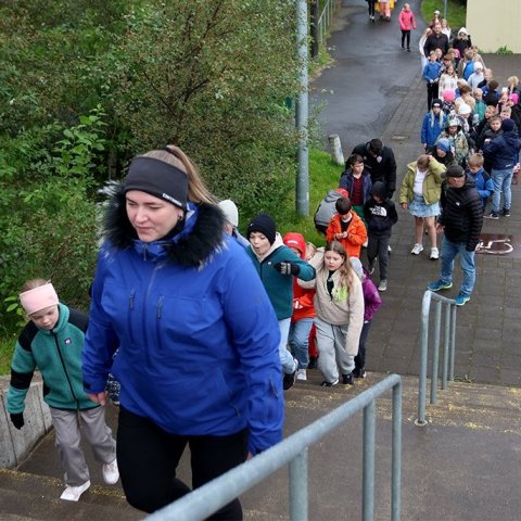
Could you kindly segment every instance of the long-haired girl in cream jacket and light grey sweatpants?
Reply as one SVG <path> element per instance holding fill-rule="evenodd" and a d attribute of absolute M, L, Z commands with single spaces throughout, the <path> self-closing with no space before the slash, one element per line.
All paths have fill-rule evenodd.
<path fill-rule="evenodd" d="M 304 282 L 303 288 L 316 288 L 315 326 L 319 352 L 318 368 L 323 374 L 325 387 L 353 384 L 355 356 L 364 326 L 364 293 L 361 282 L 354 274 L 344 246 L 330 242 L 309 260 L 316 270 L 316 279 Z M 340 368 L 340 372 L 339 372 Z"/>

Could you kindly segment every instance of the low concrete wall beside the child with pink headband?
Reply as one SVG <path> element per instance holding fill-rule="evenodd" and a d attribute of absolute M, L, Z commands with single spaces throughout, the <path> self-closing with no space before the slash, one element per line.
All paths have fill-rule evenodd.
<path fill-rule="evenodd" d="M 35 374 L 25 398 L 25 425 L 18 431 L 13 427 L 7 410 L 10 377 L 0 377 L 0 468 L 20 465 L 36 443 L 52 427 L 49 406 L 43 402 L 43 382 Z"/>

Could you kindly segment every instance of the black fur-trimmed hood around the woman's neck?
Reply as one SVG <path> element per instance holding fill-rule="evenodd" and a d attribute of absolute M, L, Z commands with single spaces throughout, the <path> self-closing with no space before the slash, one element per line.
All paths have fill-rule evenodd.
<path fill-rule="evenodd" d="M 179 230 L 167 239 L 143 243 L 128 220 L 123 182 L 111 182 L 102 190 L 106 195 L 101 220 L 102 240 L 116 250 L 135 247 L 149 255 L 166 255 L 167 263 L 201 266 L 224 245 L 225 217 L 217 205 L 189 203 Z"/>

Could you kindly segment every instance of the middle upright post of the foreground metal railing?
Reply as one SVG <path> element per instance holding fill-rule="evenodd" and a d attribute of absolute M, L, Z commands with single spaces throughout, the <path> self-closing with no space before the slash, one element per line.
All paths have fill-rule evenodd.
<path fill-rule="evenodd" d="M 374 425 L 377 408 L 372 401 L 364 409 L 363 505 L 361 519 L 374 520 Z"/>

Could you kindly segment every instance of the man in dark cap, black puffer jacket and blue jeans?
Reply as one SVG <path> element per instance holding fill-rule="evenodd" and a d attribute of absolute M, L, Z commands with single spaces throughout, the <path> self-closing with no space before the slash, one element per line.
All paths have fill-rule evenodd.
<path fill-rule="evenodd" d="M 483 226 L 483 207 L 475 183 L 461 166 L 452 166 L 442 185 L 442 213 L 436 231 L 444 233 L 440 279 L 428 285 L 430 291 L 443 291 L 453 287 L 454 260 L 459 255 L 463 278 L 455 298 L 463 306 L 472 294 L 475 283 L 474 252 Z"/>

